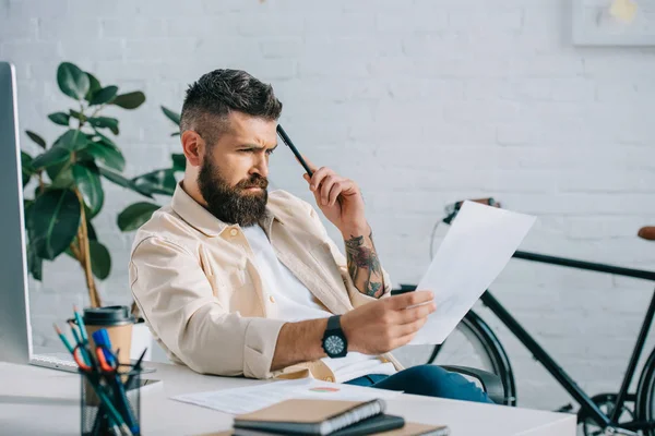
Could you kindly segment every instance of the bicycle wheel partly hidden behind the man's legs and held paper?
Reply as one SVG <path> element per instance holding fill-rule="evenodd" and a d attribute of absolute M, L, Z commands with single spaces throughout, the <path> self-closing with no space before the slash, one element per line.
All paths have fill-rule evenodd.
<path fill-rule="evenodd" d="M 500 341 L 475 312 L 469 311 L 441 346 L 405 346 L 394 351 L 405 366 L 425 363 L 471 366 L 500 377 L 507 405 L 516 405 L 516 386 L 510 360 Z"/>

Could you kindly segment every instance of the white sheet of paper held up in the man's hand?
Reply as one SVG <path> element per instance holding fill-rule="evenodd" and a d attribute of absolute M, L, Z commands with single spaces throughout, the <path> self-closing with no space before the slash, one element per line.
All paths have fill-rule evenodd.
<path fill-rule="evenodd" d="M 417 289 L 434 293 L 437 310 L 409 344 L 438 344 L 453 331 L 503 270 L 535 217 L 464 202 Z"/>

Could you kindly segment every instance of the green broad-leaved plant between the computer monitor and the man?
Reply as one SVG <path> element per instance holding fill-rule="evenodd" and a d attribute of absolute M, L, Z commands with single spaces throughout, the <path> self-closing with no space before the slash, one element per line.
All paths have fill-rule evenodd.
<path fill-rule="evenodd" d="M 48 116 L 64 132 L 48 146 L 40 135 L 26 131 L 43 152 L 34 157 L 21 152 L 28 270 L 40 281 L 43 262 L 66 253 L 79 262 L 90 305 L 98 307 L 102 299 L 95 280 L 107 278 L 111 270 L 109 251 L 93 226 L 105 199 L 103 179 L 152 198 L 145 187 L 121 174 L 126 159 L 110 137 L 118 136 L 119 121 L 100 113 L 108 106 L 136 109 L 145 95 L 119 94 L 118 86 L 103 86 L 70 62 L 57 69 L 57 83 L 75 101 L 73 109 Z M 31 184 L 33 180 L 36 183 Z"/>

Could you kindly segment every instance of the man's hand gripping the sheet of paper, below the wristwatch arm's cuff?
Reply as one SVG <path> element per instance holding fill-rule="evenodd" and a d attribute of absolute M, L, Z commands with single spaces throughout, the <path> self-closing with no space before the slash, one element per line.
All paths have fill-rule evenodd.
<path fill-rule="evenodd" d="M 429 291 L 407 292 L 346 313 L 341 325 L 348 351 L 381 354 L 407 344 L 437 308 L 432 299 Z"/>

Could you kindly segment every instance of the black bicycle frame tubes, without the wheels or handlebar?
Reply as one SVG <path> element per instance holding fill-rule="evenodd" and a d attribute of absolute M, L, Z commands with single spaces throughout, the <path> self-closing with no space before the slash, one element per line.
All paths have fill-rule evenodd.
<path fill-rule="evenodd" d="M 653 271 L 622 268 L 611 265 L 581 262 L 563 257 L 546 256 L 541 254 L 520 251 L 515 252 L 513 257 L 521 258 L 524 261 L 537 262 L 541 264 L 559 265 L 575 269 L 607 272 L 623 277 L 633 277 L 655 281 L 655 272 Z M 558 383 L 575 399 L 575 401 L 580 403 L 581 409 L 585 413 L 593 417 L 596 421 L 596 423 L 598 423 L 603 427 L 618 425 L 617 420 L 619 419 L 621 409 L 627 400 L 630 383 L 634 377 L 634 372 L 636 370 L 639 358 L 641 356 L 641 353 L 643 351 L 646 341 L 646 336 L 653 323 L 653 317 L 655 316 L 655 291 L 653 293 L 653 298 L 651 299 L 648 310 L 646 311 L 644 322 L 641 326 L 636 343 L 634 346 L 634 349 L 632 350 L 632 355 L 628 364 L 628 370 L 626 371 L 626 375 L 623 376 L 621 389 L 619 390 L 619 393 L 617 396 L 611 416 L 608 416 L 605 413 L 603 413 L 603 411 L 596 405 L 596 403 L 594 403 L 592 398 L 575 384 L 575 382 L 569 376 L 569 374 L 567 374 L 562 370 L 562 367 L 557 364 L 557 362 L 546 352 L 546 350 L 544 350 L 535 341 L 535 339 L 502 306 L 502 304 L 498 300 L 496 300 L 496 298 L 489 291 L 486 291 L 480 298 L 480 300 L 487 307 L 489 307 L 491 312 L 493 312 L 496 316 L 498 316 L 502 324 L 504 324 L 510 329 L 510 331 L 521 341 L 521 343 L 523 343 L 523 346 L 527 348 L 527 350 L 535 356 L 535 359 L 539 363 L 541 363 L 541 365 L 544 365 L 548 373 L 550 373 L 550 375 L 552 375 L 552 377 L 555 377 L 555 379 L 558 380 Z M 655 422 L 640 423 L 639 425 L 633 425 L 631 427 L 652 428 L 655 427 Z"/>

